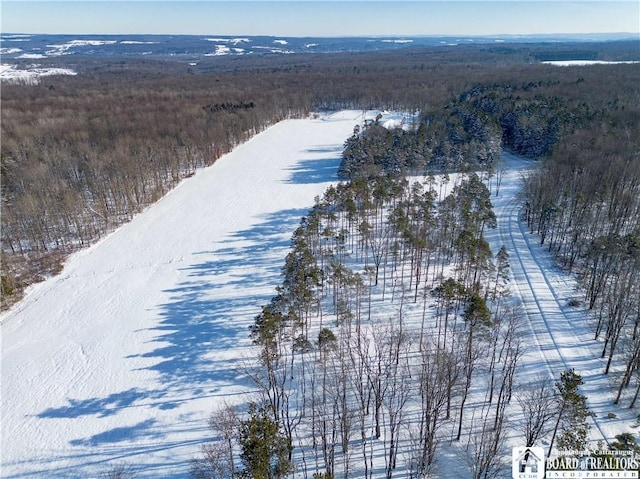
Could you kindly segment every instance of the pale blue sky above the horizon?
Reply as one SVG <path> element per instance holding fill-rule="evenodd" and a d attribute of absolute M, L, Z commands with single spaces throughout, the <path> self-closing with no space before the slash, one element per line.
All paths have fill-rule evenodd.
<path fill-rule="evenodd" d="M 3 33 L 330 37 L 640 30 L 638 0 L 2 0 L 0 7 Z"/>

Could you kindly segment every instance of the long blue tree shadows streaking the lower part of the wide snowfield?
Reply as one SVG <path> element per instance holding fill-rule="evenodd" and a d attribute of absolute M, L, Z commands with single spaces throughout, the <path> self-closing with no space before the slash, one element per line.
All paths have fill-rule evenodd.
<path fill-rule="evenodd" d="M 184 420 L 180 424 L 167 427 L 156 419 L 146 419 L 145 409 L 173 409 L 196 398 L 253 389 L 243 374 L 238 354 L 243 349 L 247 355 L 250 353 L 249 326 L 275 294 L 291 234 L 306 213 L 306 209 L 288 209 L 269 214 L 250 228 L 215 243 L 211 250 L 193 253 L 193 263 L 180 270 L 184 279 L 165 291 L 169 300 L 158 306 L 158 320 L 151 328 L 154 333 L 151 343 L 155 347 L 129 356 L 152 360 L 153 364 L 145 369 L 159 376 L 160 384 L 154 389 L 131 388 L 106 397 L 68 399 L 68 404 L 37 415 L 46 420 L 82 420 L 86 416 L 106 418 L 123 409 L 141 408 L 143 415 L 138 423 L 71 440 L 70 445 L 77 449 L 70 460 L 76 464 L 81 460 L 83 464 L 76 466 L 73 473 L 123 458 L 135 461 L 140 454 L 203 440 L 167 441 L 168 435 L 179 435 L 184 420 L 194 418 L 182 415 Z M 197 425 L 191 424 L 189 431 L 200 427 L 206 431 L 206 421 L 201 418 L 198 421 Z M 206 432 L 202 437 L 206 437 Z M 85 462 L 83 455 L 91 449 L 97 455 Z M 46 468 L 48 477 L 68 477 L 66 474 L 71 471 L 71 466 L 47 466 L 46 458 L 36 462 L 27 469 Z M 173 466 L 176 474 L 165 467 L 162 477 L 184 477 L 188 464 L 178 460 Z M 148 467 L 144 466 L 144 470 L 148 472 Z"/>

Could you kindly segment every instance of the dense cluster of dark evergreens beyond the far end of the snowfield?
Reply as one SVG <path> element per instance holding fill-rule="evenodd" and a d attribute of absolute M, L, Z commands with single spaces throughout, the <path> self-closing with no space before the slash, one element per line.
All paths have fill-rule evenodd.
<path fill-rule="evenodd" d="M 339 173 L 485 169 L 502 148 L 534 159 L 549 156 L 563 136 L 605 115 L 600 102 L 581 101 L 575 92 L 557 96 L 558 84 L 475 86 L 442 109 L 423 112 L 413 129 L 389 131 L 374 122 L 347 140 Z"/>

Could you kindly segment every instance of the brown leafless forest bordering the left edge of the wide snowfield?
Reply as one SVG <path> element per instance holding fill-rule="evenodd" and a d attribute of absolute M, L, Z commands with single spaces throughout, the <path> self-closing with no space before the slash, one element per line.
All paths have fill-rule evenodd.
<path fill-rule="evenodd" d="M 274 122 L 308 112 L 268 91 L 256 105 L 243 100 L 252 90 L 204 78 L 186 89 L 171 76 L 142 85 L 128 75 L 103 81 L 3 85 L 3 303 L 198 168 Z"/>

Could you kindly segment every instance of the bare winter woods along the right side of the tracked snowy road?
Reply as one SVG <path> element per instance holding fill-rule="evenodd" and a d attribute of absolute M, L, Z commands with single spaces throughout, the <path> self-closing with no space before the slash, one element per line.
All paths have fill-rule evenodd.
<path fill-rule="evenodd" d="M 604 373 L 618 384 L 615 403 L 633 408 L 640 394 L 640 141 L 628 133 L 640 121 L 624 125 L 577 130 L 524 181 L 522 196 L 531 232 L 579 280 Z M 577 152 L 576 143 L 589 148 Z"/>

